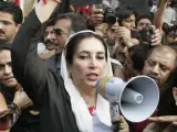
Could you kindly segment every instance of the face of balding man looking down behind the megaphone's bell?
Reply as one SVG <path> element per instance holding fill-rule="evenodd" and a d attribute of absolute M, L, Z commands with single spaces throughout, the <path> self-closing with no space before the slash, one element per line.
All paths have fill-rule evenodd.
<path fill-rule="evenodd" d="M 152 77 L 160 86 L 175 68 L 175 58 L 169 52 L 153 51 L 145 62 L 143 75 Z"/>

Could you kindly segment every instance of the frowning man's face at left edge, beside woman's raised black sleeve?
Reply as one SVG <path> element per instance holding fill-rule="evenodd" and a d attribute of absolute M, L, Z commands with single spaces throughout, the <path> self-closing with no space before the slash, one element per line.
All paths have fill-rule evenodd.
<path fill-rule="evenodd" d="M 15 87 L 17 79 L 13 76 L 11 67 L 11 53 L 9 50 L 0 51 L 0 84 L 6 87 Z"/>

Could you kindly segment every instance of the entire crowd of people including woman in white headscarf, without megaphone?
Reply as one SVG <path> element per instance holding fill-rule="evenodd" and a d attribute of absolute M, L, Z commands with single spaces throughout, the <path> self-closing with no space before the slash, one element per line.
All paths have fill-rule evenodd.
<path fill-rule="evenodd" d="M 148 0 L 147 13 L 72 3 L 39 0 L 23 18 L 14 0 L 0 2 L 0 132 L 176 132 L 177 1 Z M 106 75 L 150 77 L 153 116 L 113 120 L 95 89 Z"/>

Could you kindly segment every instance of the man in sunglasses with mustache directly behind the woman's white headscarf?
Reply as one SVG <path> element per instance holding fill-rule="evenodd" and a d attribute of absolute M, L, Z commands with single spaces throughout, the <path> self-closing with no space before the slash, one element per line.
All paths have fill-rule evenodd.
<path fill-rule="evenodd" d="M 45 61 L 46 66 L 55 68 L 56 72 L 59 72 L 61 66 L 61 55 L 66 40 L 73 33 L 86 29 L 86 21 L 83 15 L 77 13 L 59 14 L 53 26 L 53 32 L 49 38 L 49 43 L 52 43 L 52 46 L 55 48 L 55 54 Z"/>

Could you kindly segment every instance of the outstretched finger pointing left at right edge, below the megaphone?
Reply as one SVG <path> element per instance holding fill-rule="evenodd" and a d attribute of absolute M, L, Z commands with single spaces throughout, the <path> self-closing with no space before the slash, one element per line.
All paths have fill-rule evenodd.
<path fill-rule="evenodd" d="M 177 116 L 152 117 L 149 121 L 155 122 L 177 122 Z"/>

